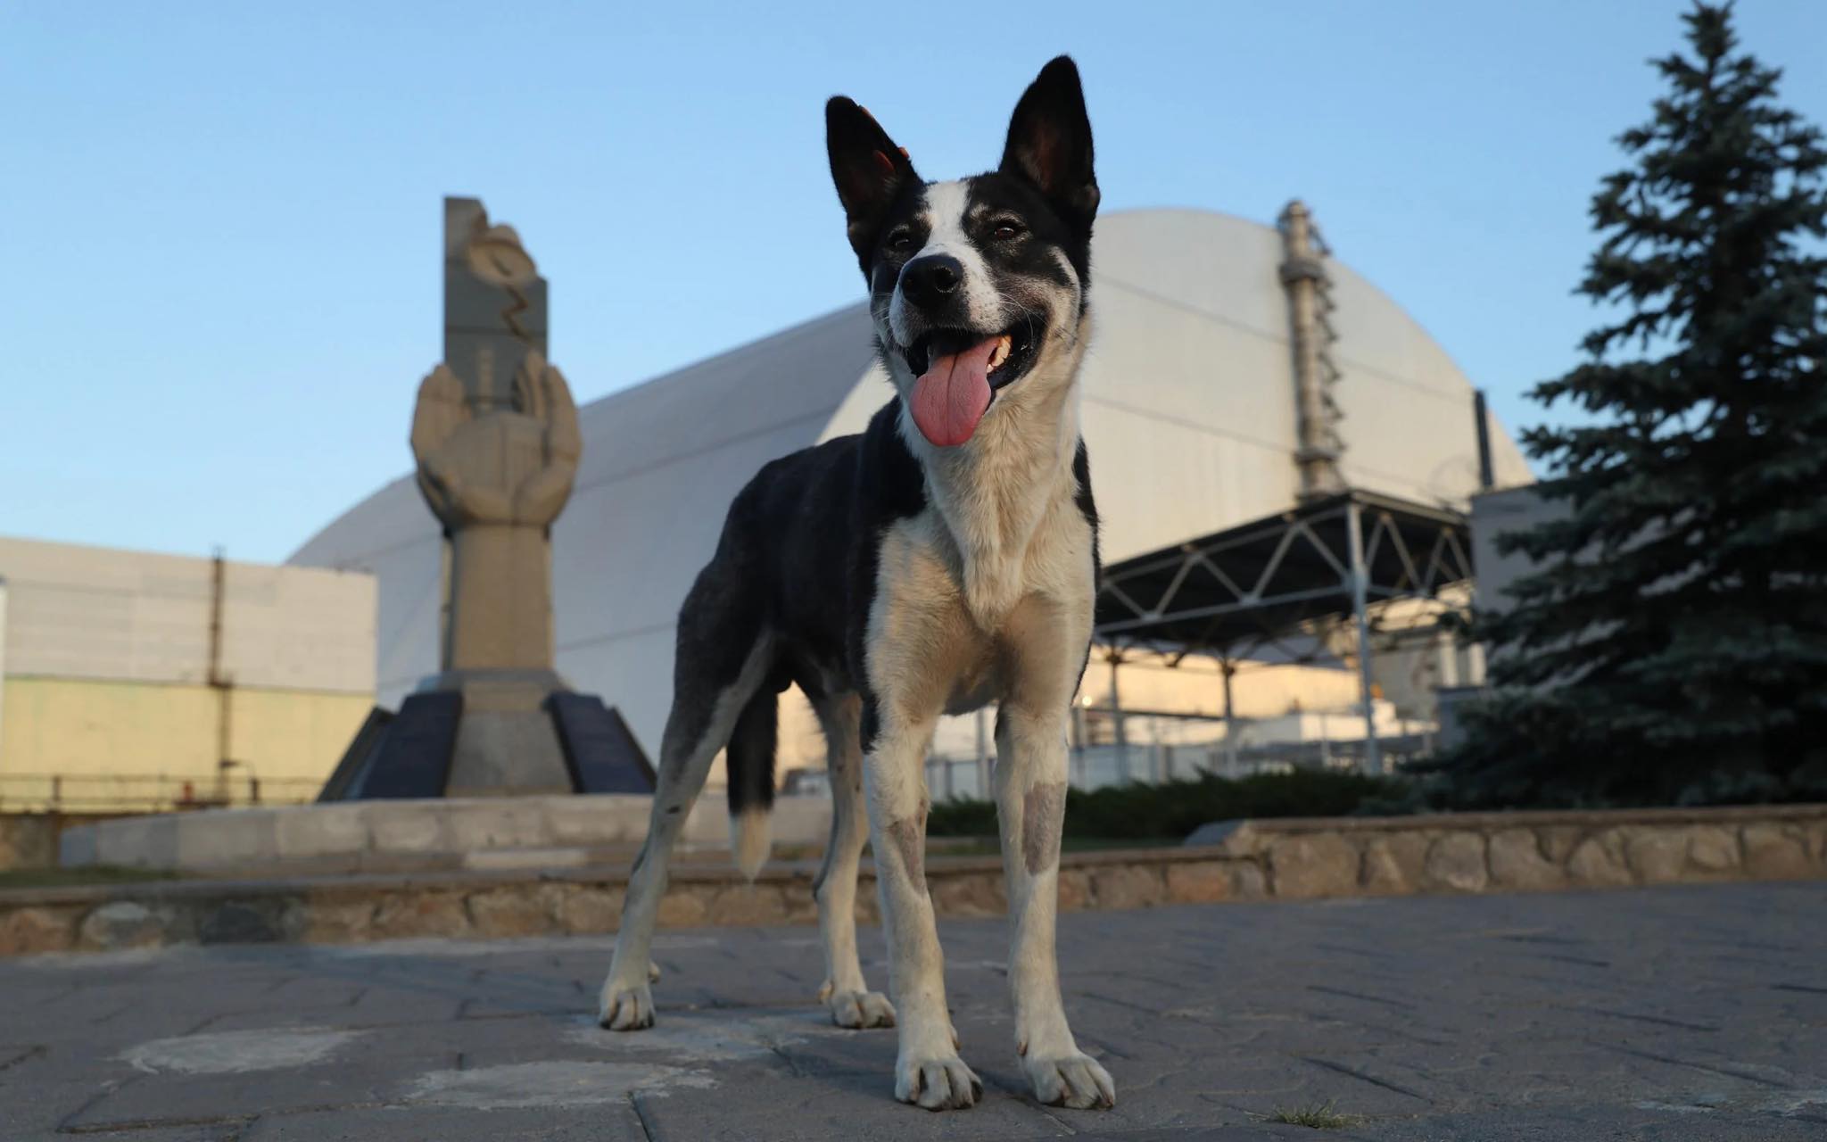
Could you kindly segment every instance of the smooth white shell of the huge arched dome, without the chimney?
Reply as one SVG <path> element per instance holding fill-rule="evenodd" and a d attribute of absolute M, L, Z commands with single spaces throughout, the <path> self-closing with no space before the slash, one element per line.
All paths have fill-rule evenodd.
<path fill-rule="evenodd" d="M 1082 424 L 1105 561 L 1294 506 L 1281 261 L 1275 228 L 1222 214 L 1098 221 Z M 1339 473 L 1352 488 L 1463 510 L 1478 490 L 1473 386 L 1389 296 L 1336 261 L 1326 269 Z M 557 669 L 619 707 L 649 755 L 671 702 L 678 607 L 731 497 L 766 460 L 861 431 L 890 398 L 870 336 L 857 303 L 581 409 L 583 464 L 552 535 Z M 1500 486 L 1533 479 L 1494 422 L 1491 453 Z M 437 672 L 440 537 L 411 477 L 290 563 L 378 577 L 382 703 Z"/>

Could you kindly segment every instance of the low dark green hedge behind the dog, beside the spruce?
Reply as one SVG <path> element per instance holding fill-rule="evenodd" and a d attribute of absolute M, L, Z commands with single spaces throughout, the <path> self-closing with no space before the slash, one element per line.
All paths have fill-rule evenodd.
<path fill-rule="evenodd" d="M 1071 789 L 1065 835 L 1080 839 L 1178 841 L 1211 820 L 1242 817 L 1346 817 L 1389 813 L 1410 804 L 1407 780 L 1321 769 L 1199 777 L 1158 786 Z M 932 806 L 934 837 L 994 837 L 996 804 L 954 798 Z"/>

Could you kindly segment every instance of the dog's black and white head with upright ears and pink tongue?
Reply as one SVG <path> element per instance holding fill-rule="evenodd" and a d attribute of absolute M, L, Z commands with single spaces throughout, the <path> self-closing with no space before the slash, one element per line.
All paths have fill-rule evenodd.
<path fill-rule="evenodd" d="M 1071 382 L 1098 181 L 1078 68 L 1041 68 L 990 174 L 926 183 L 855 102 L 824 108 L 831 179 L 888 375 L 928 442 L 963 444 L 1009 386 Z"/>

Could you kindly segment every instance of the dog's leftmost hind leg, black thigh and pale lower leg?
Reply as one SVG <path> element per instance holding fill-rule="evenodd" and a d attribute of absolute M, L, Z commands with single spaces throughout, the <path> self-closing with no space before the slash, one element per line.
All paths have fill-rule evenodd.
<path fill-rule="evenodd" d="M 667 892 L 672 846 L 703 789 L 716 751 L 729 744 L 736 718 L 771 667 L 771 647 L 758 612 L 747 605 L 745 592 L 740 587 L 731 590 L 731 577 L 716 570 L 716 565 L 705 568 L 680 614 L 672 711 L 660 742 L 647 844 L 628 877 L 616 956 L 597 1005 L 597 1020 L 612 1031 L 639 1031 L 654 1023 L 649 987 L 654 921 Z"/>

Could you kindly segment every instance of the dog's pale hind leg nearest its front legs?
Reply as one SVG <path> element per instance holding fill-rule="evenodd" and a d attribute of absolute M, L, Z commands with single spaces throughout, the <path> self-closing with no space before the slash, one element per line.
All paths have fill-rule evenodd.
<path fill-rule="evenodd" d="M 862 800 L 862 702 L 855 694 L 813 700 L 824 731 L 826 771 L 831 780 L 831 841 L 811 892 L 818 901 L 824 939 L 824 987 L 818 1001 L 839 1027 L 893 1027 L 888 996 L 871 992 L 857 959 L 857 864 L 870 839 Z"/>

